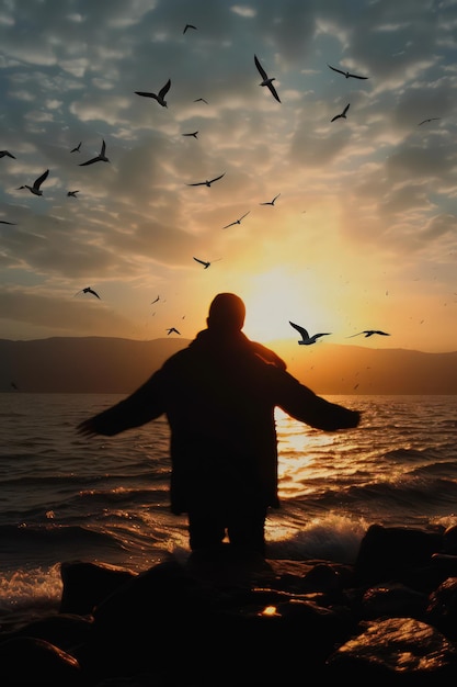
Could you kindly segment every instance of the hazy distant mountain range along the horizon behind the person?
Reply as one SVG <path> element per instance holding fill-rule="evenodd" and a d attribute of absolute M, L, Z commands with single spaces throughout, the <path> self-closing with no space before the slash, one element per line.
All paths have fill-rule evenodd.
<path fill-rule="evenodd" d="M 129 394 L 188 342 L 178 337 L 0 339 L 0 392 Z M 295 341 L 271 347 L 318 394 L 457 394 L 457 351 Z"/>

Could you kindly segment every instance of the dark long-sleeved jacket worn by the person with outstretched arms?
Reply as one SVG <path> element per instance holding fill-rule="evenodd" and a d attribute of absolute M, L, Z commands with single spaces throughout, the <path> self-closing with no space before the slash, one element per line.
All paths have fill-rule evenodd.
<path fill-rule="evenodd" d="M 175 514 L 222 491 L 278 507 L 276 406 L 327 431 L 359 421 L 358 412 L 317 396 L 242 333 L 228 339 L 205 329 L 130 396 L 85 424 L 112 436 L 165 414 Z"/>

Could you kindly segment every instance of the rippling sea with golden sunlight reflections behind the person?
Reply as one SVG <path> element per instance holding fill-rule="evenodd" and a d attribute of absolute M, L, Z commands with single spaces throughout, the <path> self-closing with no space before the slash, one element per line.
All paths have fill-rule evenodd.
<path fill-rule="evenodd" d="M 0 629 L 58 609 L 60 563 L 140 572 L 188 555 L 169 509 L 165 418 L 117 437 L 77 425 L 123 396 L 0 394 Z M 325 433 L 276 412 L 282 507 L 267 558 L 353 563 L 372 523 L 457 523 L 455 395 L 338 395 L 356 429 Z"/>

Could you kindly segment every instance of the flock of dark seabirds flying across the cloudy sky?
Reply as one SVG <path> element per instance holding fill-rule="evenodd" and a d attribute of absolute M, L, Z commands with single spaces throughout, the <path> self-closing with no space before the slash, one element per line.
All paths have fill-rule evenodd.
<path fill-rule="evenodd" d="M 184 26 L 183 33 L 186 33 L 186 31 L 188 31 L 190 29 L 195 31 L 197 27 L 195 25 L 193 25 L 193 24 L 186 24 Z M 265 71 L 264 67 L 260 63 L 260 60 L 259 60 L 256 55 L 254 55 L 254 64 L 255 64 L 255 67 L 258 68 L 259 74 L 262 77 L 262 80 L 259 83 L 259 86 L 267 88 L 270 90 L 270 92 L 272 93 L 273 98 L 278 103 L 281 103 L 281 99 L 279 99 L 279 95 L 278 95 L 278 93 L 276 91 L 276 88 L 273 86 L 273 81 L 275 81 L 275 77 L 269 77 L 267 72 Z M 350 79 L 350 78 L 352 78 L 352 79 L 368 79 L 368 77 L 366 77 L 366 76 L 361 76 L 361 75 L 352 74 L 350 71 L 344 71 L 344 70 L 339 69 L 336 67 L 333 67 L 331 65 L 328 65 L 328 67 L 330 69 L 332 69 L 333 71 L 343 75 L 346 79 Z M 167 108 L 168 103 L 167 103 L 165 97 L 167 97 L 170 88 L 171 88 L 171 79 L 168 79 L 168 81 L 162 86 L 162 88 L 158 91 L 158 93 L 155 93 L 155 92 L 151 92 L 151 91 L 135 91 L 135 93 L 137 95 L 139 95 L 139 97 L 142 97 L 142 98 L 153 99 L 162 108 Z M 207 101 L 204 98 L 197 98 L 197 99 L 195 99 L 194 102 L 198 102 L 198 101 L 202 101 L 202 102 L 207 104 Z M 331 119 L 331 122 L 334 122 L 335 120 L 339 120 L 339 119 L 346 119 L 346 114 L 347 114 L 349 109 L 350 109 L 350 103 L 344 108 L 344 110 L 340 114 L 334 115 Z M 421 126 L 421 125 L 423 125 L 423 124 L 425 124 L 427 122 L 432 122 L 432 121 L 439 120 L 439 119 L 441 117 L 429 117 L 429 119 L 423 120 L 422 122 L 420 122 L 419 125 Z M 183 134 L 183 136 L 193 136 L 194 138 L 197 138 L 197 135 L 198 135 L 198 131 Z M 70 153 L 80 153 L 81 145 L 82 145 L 82 142 L 80 142 L 77 146 L 75 146 L 70 150 Z M 15 159 L 15 156 L 12 155 L 9 150 L 0 150 L 0 158 L 2 158 L 2 157 L 10 157 L 10 158 Z M 105 140 L 102 140 L 102 146 L 101 146 L 100 153 L 96 156 L 85 160 L 84 162 L 80 162 L 80 167 L 85 167 L 88 165 L 94 165 L 95 162 L 110 162 L 110 159 L 106 156 L 106 143 L 105 143 Z M 215 177 L 213 179 L 206 179 L 205 181 L 197 181 L 197 182 L 194 182 L 194 183 L 188 183 L 186 185 L 190 185 L 190 187 L 206 185 L 206 187 L 210 188 L 210 185 L 213 183 L 215 183 L 216 181 L 219 181 L 220 179 L 222 179 L 225 177 L 225 173 L 226 172 L 224 172 L 224 173 L 221 173 L 221 174 L 219 174 L 219 176 L 217 176 L 217 177 Z M 21 187 L 19 187 L 18 190 L 27 189 L 34 195 L 38 195 L 38 196 L 43 195 L 42 184 L 46 181 L 48 176 L 49 176 L 49 169 L 46 169 L 39 177 L 37 177 L 35 179 L 35 181 L 32 184 L 26 184 L 26 183 L 22 184 Z M 77 193 L 79 193 L 79 190 L 68 191 L 67 195 L 68 196 L 72 196 L 72 198 L 77 198 Z M 276 200 L 279 198 L 279 195 L 281 195 L 281 193 L 275 195 L 271 201 L 266 201 L 266 202 L 260 203 L 260 205 L 272 205 L 273 206 L 275 204 Z M 236 224 L 241 224 L 241 221 L 245 216 L 248 216 L 249 213 L 250 213 L 250 211 L 245 212 L 243 215 L 241 215 L 241 217 L 235 219 L 233 222 L 230 222 L 229 224 L 225 225 L 222 228 L 227 229 L 228 227 L 233 226 Z M 0 223 L 1 224 L 14 224 L 13 222 L 8 222 L 5 219 L 0 219 Z M 196 257 L 194 257 L 194 260 L 196 262 L 198 262 L 199 264 L 202 264 L 205 270 L 209 268 L 212 262 L 216 261 L 216 260 L 213 260 L 213 261 L 202 260 L 202 259 L 196 258 Z M 218 260 L 221 260 L 221 258 L 218 258 Z M 84 289 L 81 289 L 75 295 L 78 295 L 78 294 L 81 294 L 81 293 L 82 294 L 91 294 L 92 296 L 101 300 L 99 293 L 96 291 L 94 291 L 91 286 L 85 286 Z M 152 303 L 156 303 L 157 301 L 159 301 L 159 296 Z M 324 333 L 318 333 L 318 334 L 315 334 L 315 335 L 310 336 L 308 330 L 305 327 L 302 327 L 300 325 L 297 325 L 297 324 L 295 324 L 293 322 L 289 322 L 289 324 L 290 324 L 292 327 L 294 327 L 294 329 L 296 329 L 300 334 L 301 338 L 298 340 L 298 344 L 300 346 L 310 346 L 312 344 L 316 344 L 321 337 L 330 336 L 330 334 L 331 334 L 329 331 L 324 331 Z M 167 329 L 167 333 L 168 333 L 168 335 L 170 335 L 170 334 L 181 335 L 181 333 L 175 327 L 169 327 Z M 352 337 L 361 336 L 361 335 L 364 335 L 365 337 L 370 337 L 370 336 L 374 336 L 374 335 L 390 336 L 386 331 L 382 331 L 382 330 L 379 330 L 379 329 L 365 329 L 363 331 L 359 331 L 357 334 L 352 335 Z M 349 337 L 349 338 L 351 338 L 351 337 Z"/>

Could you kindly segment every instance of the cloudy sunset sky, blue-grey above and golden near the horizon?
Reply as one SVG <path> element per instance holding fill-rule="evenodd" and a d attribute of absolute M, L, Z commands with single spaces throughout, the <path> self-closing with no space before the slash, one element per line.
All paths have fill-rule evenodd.
<path fill-rule="evenodd" d="M 0 338 L 193 338 L 226 291 L 265 344 L 457 350 L 457 0 L 2 0 L 0 38 Z"/>

